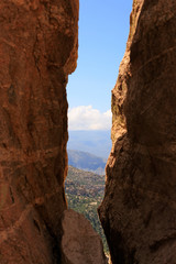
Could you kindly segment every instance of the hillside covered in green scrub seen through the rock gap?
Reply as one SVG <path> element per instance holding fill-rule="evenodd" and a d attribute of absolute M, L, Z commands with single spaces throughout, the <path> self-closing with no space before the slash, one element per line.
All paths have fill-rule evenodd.
<path fill-rule="evenodd" d="M 105 176 L 69 166 L 65 190 L 68 207 L 82 213 L 91 222 L 102 239 L 105 252 L 108 253 L 106 237 L 97 213 L 97 208 L 103 198 Z"/>

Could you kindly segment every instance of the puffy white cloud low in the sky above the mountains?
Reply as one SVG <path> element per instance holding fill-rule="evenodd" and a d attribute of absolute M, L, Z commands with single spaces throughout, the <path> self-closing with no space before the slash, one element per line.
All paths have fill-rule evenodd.
<path fill-rule="evenodd" d="M 100 112 L 91 106 L 80 106 L 68 110 L 69 130 L 110 130 L 111 110 Z"/>

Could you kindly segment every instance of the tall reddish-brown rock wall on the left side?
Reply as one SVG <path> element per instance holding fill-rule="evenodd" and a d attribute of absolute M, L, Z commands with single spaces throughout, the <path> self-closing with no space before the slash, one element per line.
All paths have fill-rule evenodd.
<path fill-rule="evenodd" d="M 59 263 L 78 0 L 0 1 L 0 263 Z"/>

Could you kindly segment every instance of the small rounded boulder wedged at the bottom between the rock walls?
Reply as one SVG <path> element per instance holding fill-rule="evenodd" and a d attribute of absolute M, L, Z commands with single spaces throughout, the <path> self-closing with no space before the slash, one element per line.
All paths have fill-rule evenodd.
<path fill-rule="evenodd" d="M 62 221 L 63 263 L 106 264 L 103 246 L 90 222 L 74 210 L 65 210 Z"/>

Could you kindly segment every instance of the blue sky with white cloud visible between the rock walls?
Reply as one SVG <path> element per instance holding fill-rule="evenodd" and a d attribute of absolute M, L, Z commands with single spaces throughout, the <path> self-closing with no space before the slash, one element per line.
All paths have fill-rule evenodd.
<path fill-rule="evenodd" d="M 124 55 L 132 0 L 79 0 L 77 69 L 68 78 L 68 129 L 110 130 L 111 90 Z"/>

